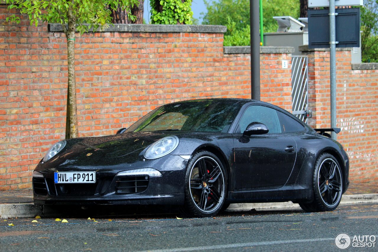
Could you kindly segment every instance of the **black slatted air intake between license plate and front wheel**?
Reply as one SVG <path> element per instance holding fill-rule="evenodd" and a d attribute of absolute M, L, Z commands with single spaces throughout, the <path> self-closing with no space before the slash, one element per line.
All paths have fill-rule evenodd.
<path fill-rule="evenodd" d="M 148 187 L 149 176 L 119 176 L 116 181 L 116 193 L 141 193 Z"/>

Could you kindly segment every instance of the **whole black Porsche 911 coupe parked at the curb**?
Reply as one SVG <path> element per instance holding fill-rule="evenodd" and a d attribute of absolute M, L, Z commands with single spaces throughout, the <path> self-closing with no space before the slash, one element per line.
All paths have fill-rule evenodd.
<path fill-rule="evenodd" d="M 230 203 L 332 211 L 349 185 L 342 146 L 287 111 L 245 99 L 158 107 L 116 135 L 62 140 L 33 172 L 35 204 L 181 205 L 190 216 Z"/>

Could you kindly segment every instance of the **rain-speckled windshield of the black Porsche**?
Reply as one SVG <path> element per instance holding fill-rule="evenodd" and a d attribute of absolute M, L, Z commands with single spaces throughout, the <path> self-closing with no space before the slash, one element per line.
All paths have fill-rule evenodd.
<path fill-rule="evenodd" d="M 171 103 L 152 110 L 136 121 L 127 132 L 227 132 L 239 109 L 239 104 L 221 100 Z"/>

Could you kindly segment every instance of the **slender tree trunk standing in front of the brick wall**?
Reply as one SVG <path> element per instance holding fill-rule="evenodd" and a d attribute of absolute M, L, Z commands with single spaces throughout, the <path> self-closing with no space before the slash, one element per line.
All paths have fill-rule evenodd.
<path fill-rule="evenodd" d="M 66 138 L 78 137 L 77 127 L 77 109 L 76 109 L 76 76 L 75 76 L 75 30 L 76 18 L 72 14 L 72 10 L 68 12 L 68 30 L 64 27 L 67 37 L 67 61 L 68 61 L 68 92 L 67 92 L 67 119 L 66 123 L 70 124 L 69 134 Z M 65 25 L 63 25 L 65 26 Z"/>

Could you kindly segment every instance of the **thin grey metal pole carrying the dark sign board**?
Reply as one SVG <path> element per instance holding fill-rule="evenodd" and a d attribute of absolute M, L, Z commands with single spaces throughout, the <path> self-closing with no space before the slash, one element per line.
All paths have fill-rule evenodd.
<path fill-rule="evenodd" d="M 331 128 L 336 127 L 336 21 L 335 0 L 330 0 L 330 86 L 331 86 Z M 331 132 L 336 140 L 336 133 Z"/>

